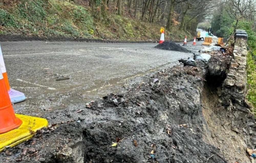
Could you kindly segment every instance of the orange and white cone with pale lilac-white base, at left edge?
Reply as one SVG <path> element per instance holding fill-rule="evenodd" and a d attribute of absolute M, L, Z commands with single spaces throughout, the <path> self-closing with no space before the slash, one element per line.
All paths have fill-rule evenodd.
<path fill-rule="evenodd" d="M 11 102 L 17 103 L 17 102 L 24 101 L 26 99 L 24 93 L 10 88 L 10 84 L 8 81 L 8 76 L 7 76 L 7 72 L 6 72 L 6 68 L 5 68 L 5 64 L 4 64 L 4 58 L 3 58 L 3 54 L 2 54 L 2 50 L 1 50 L 1 45 L 0 45 L 0 69 L 2 71 L 5 86 L 7 88 L 8 94 L 10 96 Z"/>

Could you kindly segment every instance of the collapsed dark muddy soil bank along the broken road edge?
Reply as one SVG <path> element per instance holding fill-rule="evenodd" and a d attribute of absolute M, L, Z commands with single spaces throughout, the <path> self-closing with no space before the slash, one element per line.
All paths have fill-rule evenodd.
<path fill-rule="evenodd" d="M 57 128 L 53 125 L 44 134 L 38 133 L 26 143 L 7 149 L 1 153 L 0 162 L 248 162 L 244 146 L 241 153 L 232 147 L 227 152 L 223 150 L 227 146 L 223 143 L 229 142 L 218 144 L 226 135 L 218 134 L 222 130 L 214 130 L 213 124 L 221 124 L 222 117 L 211 119 L 214 113 L 204 110 L 226 113 L 218 100 L 208 100 L 204 92 L 210 81 L 221 85 L 230 58 L 212 56 L 207 64 L 197 61 L 197 67 L 175 66 L 146 78 L 125 94 L 109 94 L 86 107 L 53 111 L 46 117 L 58 123 Z M 222 110 L 215 111 L 215 106 Z M 229 118 L 227 114 L 223 116 Z M 242 119 L 233 121 L 233 126 L 247 126 L 244 122 L 249 121 L 248 116 Z M 249 119 L 254 120 L 251 116 Z M 255 130 L 243 127 L 246 132 L 232 132 L 232 125 L 225 126 L 239 138 Z M 241 142 L 253 145 L 250 138 Z M 237 145 L 240 144 L 233 144 Z"/>

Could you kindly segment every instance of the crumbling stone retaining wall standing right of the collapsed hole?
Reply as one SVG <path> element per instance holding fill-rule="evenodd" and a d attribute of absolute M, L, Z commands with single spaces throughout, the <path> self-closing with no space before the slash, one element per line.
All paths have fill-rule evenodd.
<path fill-rule="evenodd" d="M 234 51 L 227 77 L 222 85 L 223 104 L 232 102 L 244 105 L 246 96 L 246 57 L 247 57 L 247 33 L 244 30 L 236 30 Z"/>

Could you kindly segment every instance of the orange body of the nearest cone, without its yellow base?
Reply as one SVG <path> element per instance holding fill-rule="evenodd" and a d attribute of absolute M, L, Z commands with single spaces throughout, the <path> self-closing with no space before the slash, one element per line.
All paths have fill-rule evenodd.
<path fill-rule="evenodd" d="M 1 70 L 0 70 L 1 72 Z M 5 86 L 5 80 L 0 73 L 0 134 L 18 128 L 22 121 L 16 118 L 13 106 Z"/>

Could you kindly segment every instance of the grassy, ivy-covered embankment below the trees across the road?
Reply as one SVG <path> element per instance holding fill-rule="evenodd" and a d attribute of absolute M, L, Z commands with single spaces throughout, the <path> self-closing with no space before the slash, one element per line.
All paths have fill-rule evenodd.
<path fill-rule="evenodd" d="M 90 14 L 90 7 L 58 0 L 3 0 L 0 3 L 0 35 L 72 37 L 109 40 L 159 40 L 159 24 L 141 22 L 109 13 L 105 21 Z M 192 36 L 174 27 L 166 39 L 182 41 Z"/>

